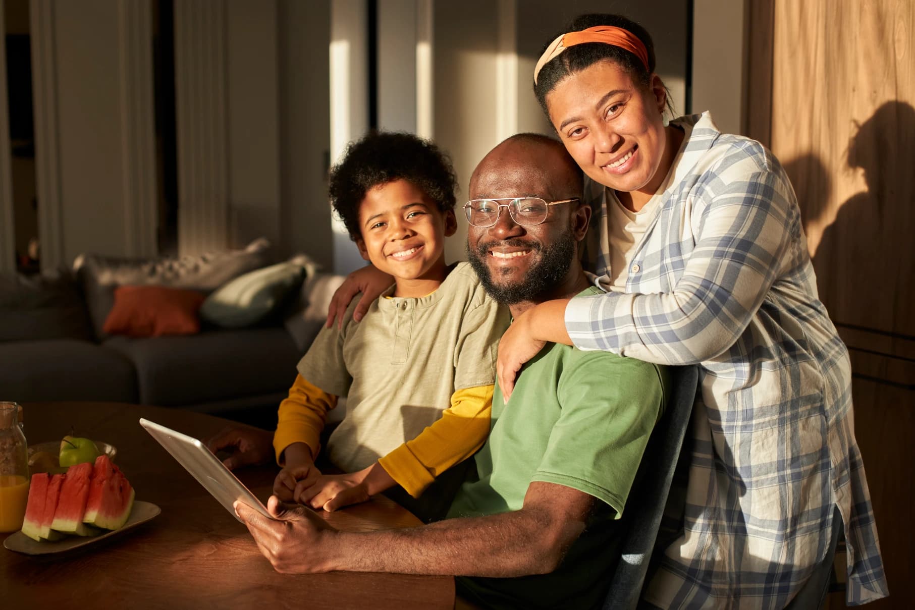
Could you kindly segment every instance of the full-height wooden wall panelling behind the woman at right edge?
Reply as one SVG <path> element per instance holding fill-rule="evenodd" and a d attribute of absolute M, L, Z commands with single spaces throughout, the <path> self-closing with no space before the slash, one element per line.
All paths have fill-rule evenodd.
<path fill-rule="evenodd" d="M 867 607 L 912 608 L 915 2 L 774 1 L 770 147 L 797 191 L 820 297 L 852 357 L 891 594 Z"/>

